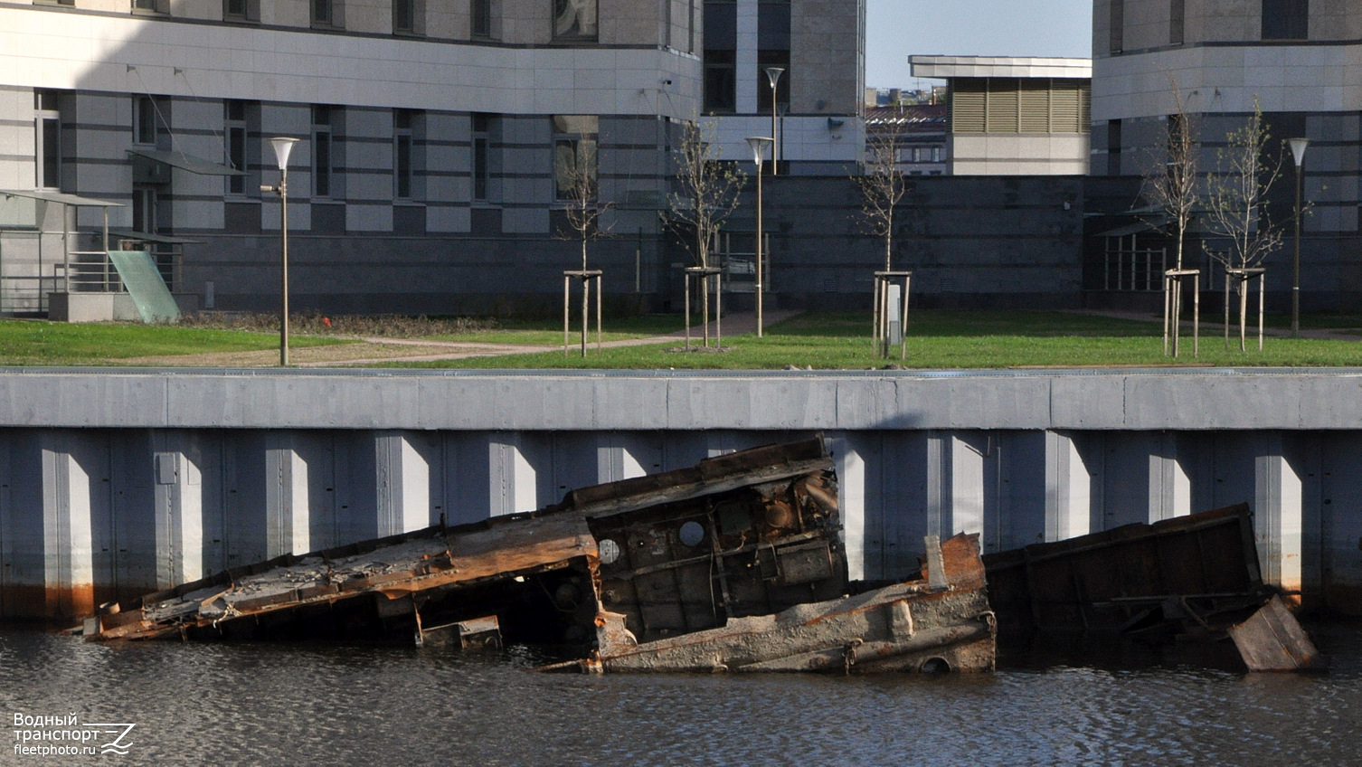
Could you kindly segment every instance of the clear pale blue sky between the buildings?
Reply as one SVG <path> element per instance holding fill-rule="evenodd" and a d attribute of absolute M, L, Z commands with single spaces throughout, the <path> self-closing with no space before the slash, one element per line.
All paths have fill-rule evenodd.
<path fill-rule="evenodd" d="M 914 87 L 913 54 L 1092 54 L 1092 0 L 866 0 L 866 14 L 869 87 Z"/>

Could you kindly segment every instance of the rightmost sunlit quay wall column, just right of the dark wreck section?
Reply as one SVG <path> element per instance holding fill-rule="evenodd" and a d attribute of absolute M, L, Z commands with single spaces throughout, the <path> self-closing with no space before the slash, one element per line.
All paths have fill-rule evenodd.
<path fill-rule="evenodd" d="M 1258 439 L 1253 463 L 1253 533 L 1263 580 L 1298 591 L 1301 582 L 1302 477 L 1291 465 L 1280 433 Z"/>

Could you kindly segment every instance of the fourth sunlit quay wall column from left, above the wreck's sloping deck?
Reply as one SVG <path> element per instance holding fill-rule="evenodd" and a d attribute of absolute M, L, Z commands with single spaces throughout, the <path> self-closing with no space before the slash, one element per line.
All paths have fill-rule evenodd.
<path fill-rule="evenodd" d="M 430 525 L 430 462 L 424 441 L 410 432 L 375 435 L 379 537 Z"/>

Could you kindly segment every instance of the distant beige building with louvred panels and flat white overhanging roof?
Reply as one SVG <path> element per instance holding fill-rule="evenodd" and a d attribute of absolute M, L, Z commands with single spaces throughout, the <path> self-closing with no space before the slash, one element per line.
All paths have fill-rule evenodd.
<path fill-rule="evenodd" d="M 911 56 L 913 75 L 949 83 L 953 176 L 1088 172 L 1087 59 Z"/>

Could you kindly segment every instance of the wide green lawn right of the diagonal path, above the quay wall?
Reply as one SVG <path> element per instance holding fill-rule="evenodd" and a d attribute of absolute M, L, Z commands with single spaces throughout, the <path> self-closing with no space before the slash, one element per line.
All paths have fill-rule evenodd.
<path fill-rule="evenodd" d="M 676 320 L 673 320 L 676 322 Z M 814 312 L 767 328 L 764 338 L 725 336 L 725 353 L 677 353 L 677 343 L 561 351 L 494 358 L 411 362 L 421 368 L 588 368 L 588 369 L 866 369 L 889 362 L 907 368 L 1030 368 L 1105 365 L 1352 366 L 1362 365 L 1362 343 L 1267 338 L 1258 351 L 1224 350 L 1219 328 L 1203 332 L 1192 357 L 1184 338 L 1177 362 L 1163 356 L 1158 323 L 1065 312 L 914 312 L 907 360 L 877 360 L 870 349 L 869 313 Z M 1310 327 L 1310 326 L 1308 326 Z M 557 343 L 561 343 L 561 331 Z"/>

